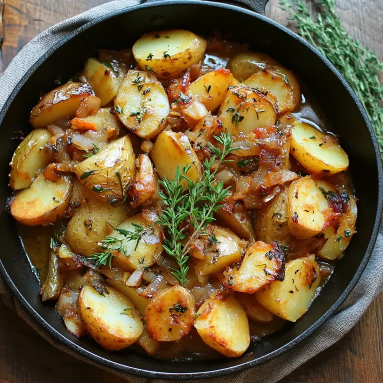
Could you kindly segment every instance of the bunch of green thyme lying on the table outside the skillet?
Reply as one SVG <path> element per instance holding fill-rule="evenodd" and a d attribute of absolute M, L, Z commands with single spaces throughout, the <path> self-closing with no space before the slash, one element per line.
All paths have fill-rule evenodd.
<path fill-rule="evenodd" d="M 383 85 L 378 77 L 383 64 L 341 26 L 336 0 L 317 0 L 320 13 L 316 18 L 302 0 L 291 1 L 294 7 L 290 0 L 280 0 L 281 8 L 297 22 L 299 34 L 323 53 L 354 89 L 373 124 L 383 155 Z"/>

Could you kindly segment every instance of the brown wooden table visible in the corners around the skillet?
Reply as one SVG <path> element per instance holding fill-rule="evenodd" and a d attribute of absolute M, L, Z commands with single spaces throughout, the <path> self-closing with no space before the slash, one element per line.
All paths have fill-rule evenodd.
<path fill-rule="evenodd" d="M 0 73 L 37 33 L 105 0 L 0 0 Z M 344 27 L 383 59 L 382 0 L 338 0 Z M 267 15 L 287 25 L 278 0 Z M 1 35 L 2 34 L 2 35 Z M 1 41 L 0 40 L 0 41 Z M 337 344 L 283 379 L 283 383 L 382 383 L 383 295 Z M 122 383 L 45 342 L 0 302 L 0 383 Z"/>

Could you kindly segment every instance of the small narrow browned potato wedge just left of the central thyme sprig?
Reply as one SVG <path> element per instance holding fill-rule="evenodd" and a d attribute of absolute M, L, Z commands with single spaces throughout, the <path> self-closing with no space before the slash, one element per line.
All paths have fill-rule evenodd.
<path fill-rule="evenodd" d="M 156 192 L 156 180 L 152 161 L 146 154 L 141 154 L 136 160 L 136 179 L 130 185 L 128 194 L 132 197 L 134 206 L 145 202 Z"/>

